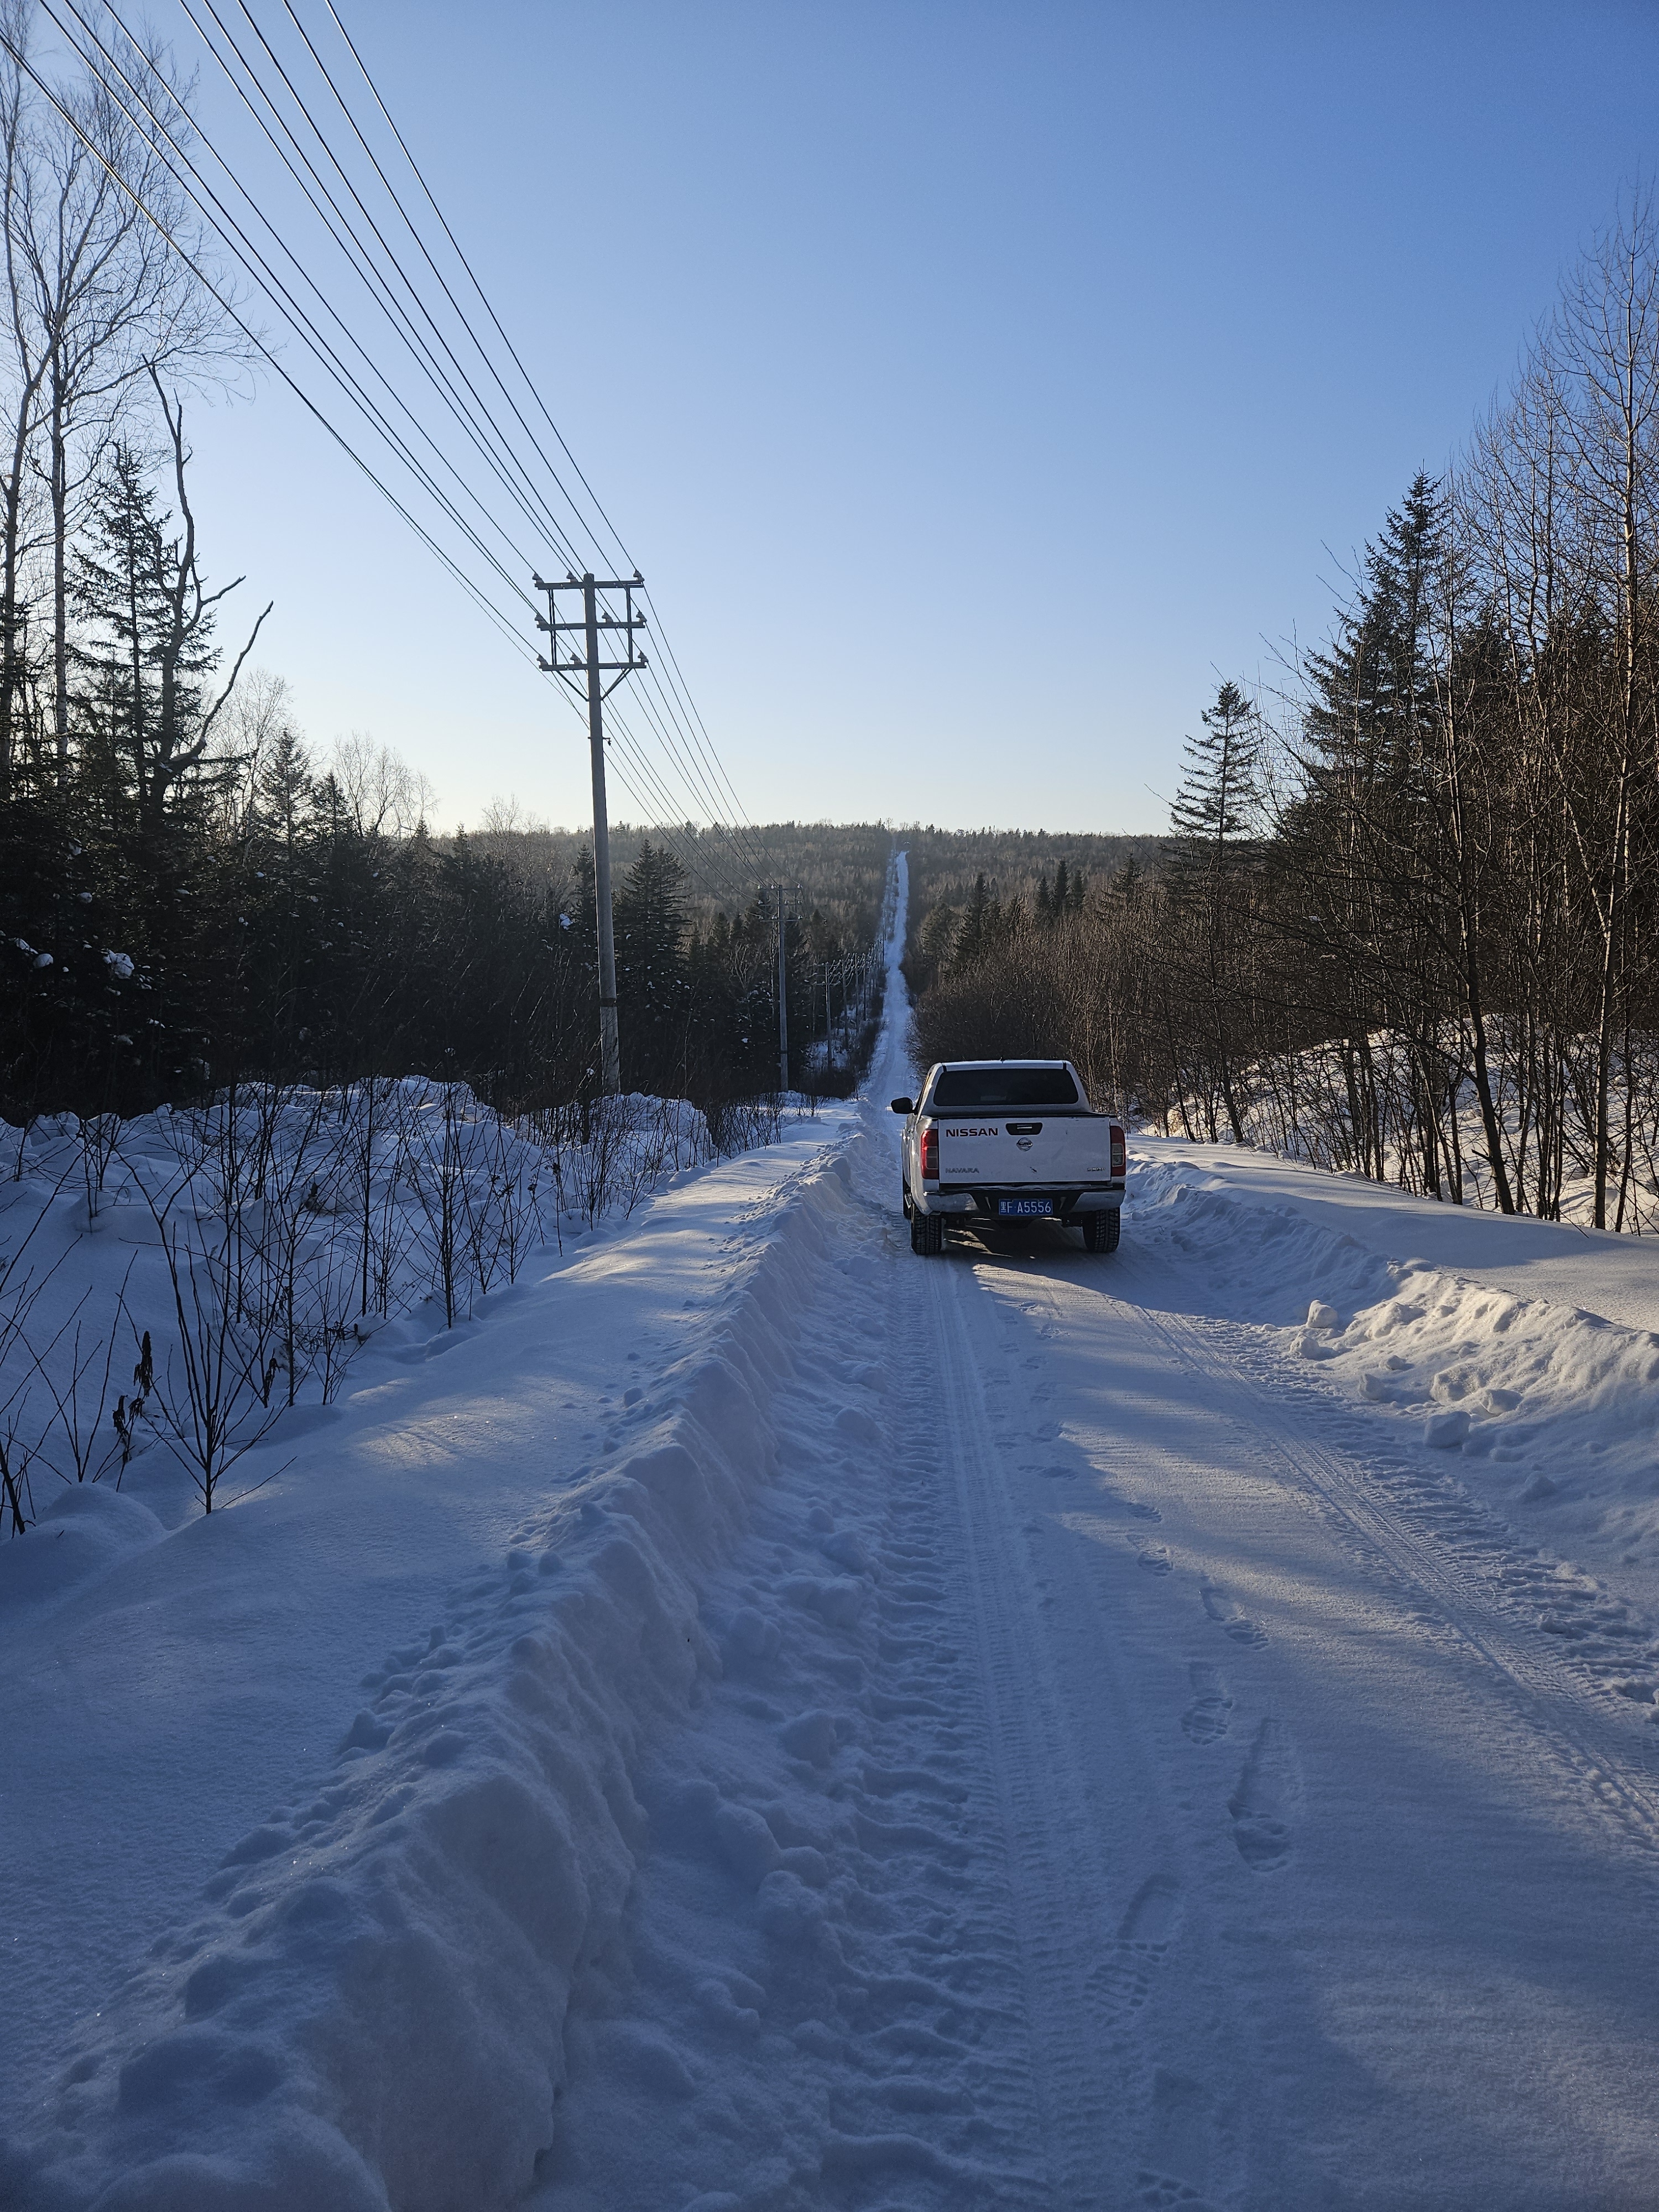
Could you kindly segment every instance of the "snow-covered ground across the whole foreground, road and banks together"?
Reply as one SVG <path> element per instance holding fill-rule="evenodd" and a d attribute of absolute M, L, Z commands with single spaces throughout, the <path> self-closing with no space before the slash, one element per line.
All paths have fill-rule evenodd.
<path fill-rule="evenodd" d="M 1652 2203 L 1641 1248 L 1152 1146 L 925 1261 L 907 1088 L 97 1486 L 18 2203 Z"/>

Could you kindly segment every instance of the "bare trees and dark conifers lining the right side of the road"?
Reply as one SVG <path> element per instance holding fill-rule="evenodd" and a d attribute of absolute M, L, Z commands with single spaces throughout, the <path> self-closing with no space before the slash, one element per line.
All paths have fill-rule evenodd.
<path fill-rule="evenodd" d="M 914 918 L 916 1051 L 1453 1201 L 1655 1223 L 1659 223 L 1582 259 L 1276 697 L 1223 684 L 1152 865 Z M 1060 905 L 1060 911 L 1055 911 Z"/>

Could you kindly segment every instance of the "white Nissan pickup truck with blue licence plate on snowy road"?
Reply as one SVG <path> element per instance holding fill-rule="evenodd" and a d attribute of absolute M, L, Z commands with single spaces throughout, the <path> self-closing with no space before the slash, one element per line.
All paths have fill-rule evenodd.
<path fill-rule="evenodd" d="M 1124 1128 L 1088 1104 L 1068 1060 L 949 1060 L 931 1066 L 905 1119 L 911 1252 L 942 1252 L 945 1230 L 1062 1221 L 1091 1252 L 1115 1252 Z"/>

